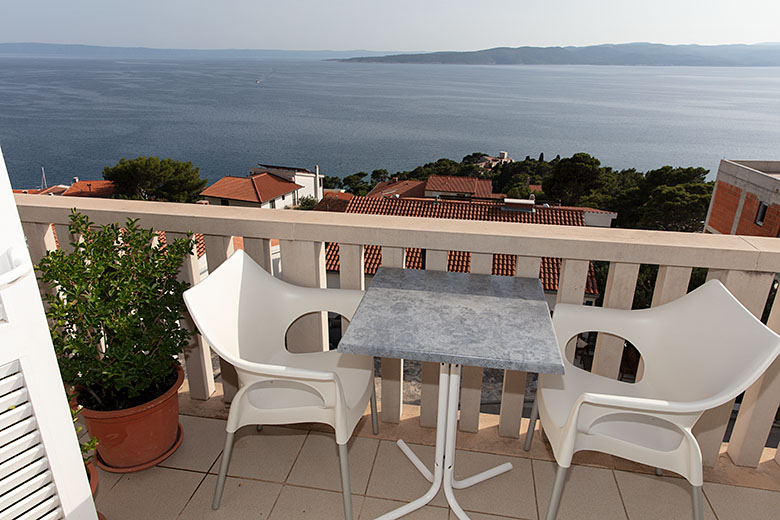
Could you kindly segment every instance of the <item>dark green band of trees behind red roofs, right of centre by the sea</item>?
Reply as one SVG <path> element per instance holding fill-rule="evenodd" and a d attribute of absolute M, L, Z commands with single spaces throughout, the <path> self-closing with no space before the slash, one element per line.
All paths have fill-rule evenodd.
<path fill-rule="evenodd" d="M 484 155 L 475 152 L 460 162 L 439 159 L 395 175 L 382 169 L 371 174 L 353 173 L 343 179 L 325 177 L 324 185 L 366 195 L 391 178 L 404 181 L 425 180 L 430 175 L 479 177 L 492 180 L 493 192 L 508 197 L 528 197 L 529 185 L 541 185 L 537 201 L 615 211 L 617 227 L 687 232 L 704 229 L 713 188 L 713 182 L 706 180 L 709 171 L 705 168 L 663 166 L 644 173 L 633 168 L 613 170 L 589 154 L 577 153 L 550 161 L 541 154 L 537 159 L 526 157 L 487 169 L 478 163 Z"/>

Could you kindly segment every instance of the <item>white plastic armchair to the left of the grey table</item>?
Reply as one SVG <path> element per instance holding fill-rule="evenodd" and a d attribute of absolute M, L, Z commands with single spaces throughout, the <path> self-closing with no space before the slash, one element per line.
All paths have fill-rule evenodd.
<path fill-rule="evenodd" d="M 369 401 L 378 433 L 373 360 L 336 351 L 293 354 L 285 348 L 285 338 L 304 314 L 331 311 L 351 319 L 362 297 L 362 291 L 285 283 L 241 250 L 184 293 L 198 330 L 238 374 L 213 509 L 220 505 L 236 430 L 249 424 L 260 429 L 264 424 L 319 422 L 336 431 L 344 513 L 352 519 L 347 441 Z"/>

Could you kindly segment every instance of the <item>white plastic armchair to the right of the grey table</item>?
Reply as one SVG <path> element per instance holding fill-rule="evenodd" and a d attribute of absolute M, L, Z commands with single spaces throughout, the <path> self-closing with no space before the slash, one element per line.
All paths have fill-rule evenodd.
<path fill-rule="evenodd" d="M 646 310 L 559 304 L 553 325 L 562 354 L 582 332 L 627 339 L 644 359 L 644 376 L 624 383 L 579 369 L 565 355 L 565 375 L 540 375 L 525 449 L 541 417 L 558 462 L 547 520 L 555 519 L 566 470 L 580 450 L 679 473 L 693 486 L 694 518 L 701 520 L 702 459 L 691 428 L 764 373 L 780 353 L 780 336 L 717 280 Z"/>

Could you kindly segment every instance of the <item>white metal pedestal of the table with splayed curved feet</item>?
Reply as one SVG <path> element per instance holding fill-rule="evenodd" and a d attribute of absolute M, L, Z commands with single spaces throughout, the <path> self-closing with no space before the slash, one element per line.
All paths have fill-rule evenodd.
<path fill-rule="evenodd" d="M 507 462 L 483 471 L 463 480 L 454 477 L 455 466 L 455 440 L 458 429 L 458 398 L 460 396 L 460 365 L 441 363 L 439 371 L 439 400 L 436 411 L 436 454 L 434 456 L 433 473 L 423 464 L 420 458 L 399 440 L 398 447 L 414 465 L 422 476 L 431 483 L 430 489 L 417 500 L 399 507 L 389 513 L 385 513 L 377 520 L 394 520 L 416 511 L 428 504 L 438 494 L 439 488 L 444 487 L 447 502 L 455 515 L 460 520 L 469 520 L 468 515 L 458 504 L 453 489 L 465 489 L 487 479 L 506 473 L 512 469 L 512 464 Z"/>

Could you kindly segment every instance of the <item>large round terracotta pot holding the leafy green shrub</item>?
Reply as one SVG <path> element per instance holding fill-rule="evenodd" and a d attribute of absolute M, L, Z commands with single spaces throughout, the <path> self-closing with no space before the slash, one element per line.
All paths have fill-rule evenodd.
<path fill-rule="evenodd" d="M 169 457 L 181 444 L 178 390 L 184 370 L 176 367 L 176 383 L 160 397 L 132 408 L 101 412 L 84 408 L 82 416 L 99 444 L 96 464 L 114 473 L 140 471 Z"/>

